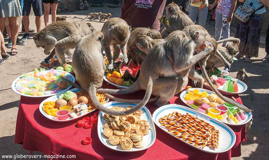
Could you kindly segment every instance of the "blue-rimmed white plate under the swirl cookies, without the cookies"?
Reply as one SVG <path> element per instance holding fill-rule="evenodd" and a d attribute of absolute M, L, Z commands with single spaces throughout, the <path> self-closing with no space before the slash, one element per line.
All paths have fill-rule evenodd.
<path fill-rule="evenodd" d="M 131 103 L 119 103 L 117 101 L 112 101 L 109 103 L 104 104 L 105 107 L 107 108 L 112 108 L 112 107 L 123 107 L 126 108 L 127 106 L 136 106 L 136 104 L 131 104 Z M 142 148 L 136 148 L 135 146 L 132 147 L 131 150 L 123 150 L 120 146 L 120 144 L 117 145 L 112 145 L 108 142 L 108 138 L 103 134 L 103 125 L 108 123 L 108 121 L 106 121 L 104 119 L 104 112 L 100 112 L 99 113 L 99 117 L 98 117 L 98 136 L 100 141 L 108 148 L 112 149 L 112 150 L 117 150 L 117 151 L 121 151 L 121 152 L 136 152 L 136 151 L 141 151 L 141 150 L 145 150 L 147 148 L 149 148 L 150 146 L 152 146 L 152 144 L 155 142 L 156 139 L 156 131 L 155 131 L 155 126 L 154 126 L 154 122 L 152 120 L 152 116 L 149 112 L 149 109 L 144 106 L 142 109 L 142 115 L 140 116 L 141 120 L 144 119 L 148 122 L 148 125 L 150 127 L 150 133 L 147 135 L 144 135 L 143 137 L 143 143 L 144 143 L 144 147 Z"/>

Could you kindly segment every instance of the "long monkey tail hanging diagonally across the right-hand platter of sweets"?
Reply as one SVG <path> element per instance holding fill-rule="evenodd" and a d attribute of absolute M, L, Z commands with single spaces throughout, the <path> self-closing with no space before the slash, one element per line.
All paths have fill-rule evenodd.
<path fill-rule="evenodd" d="M 198 61 L 200 67 L 201 67 L 201 71 L 202 73 L 204 74 L 204 77 L 206 78 L 207 80 L 207 83 L 209 84 L 209 86 L 211 87 L 211 89 L 216 93 L 216 95 L 218 95 L 218 97 L 220 97 L 222 100 L 224 100 L 225 102 L 228 102 L 232 105 L 235 105 L 237 107 L 239 107 L 240 109 L 244 110 L 245 112 L 251 112 L 250 109 L 248 109 L 247 107 L 243 106 L 242 104 L 236 102 L 236 101 L 233 101 L 227 97 L 224 97 L 223 95 L 221 95 L 220 92 L 218 92 L 218 90 L 214 87 L 213 83 L 211 82 L 211 80 L 209 79 L 208 75 L 207 75 L 207 71 L 204 67 L 204 63 L 202 62 L 202 60 L 199 60 Z"/>

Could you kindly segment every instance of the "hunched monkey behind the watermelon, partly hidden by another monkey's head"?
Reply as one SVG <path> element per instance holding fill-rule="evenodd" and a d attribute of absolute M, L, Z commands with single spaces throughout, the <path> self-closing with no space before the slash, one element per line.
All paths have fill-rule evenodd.
<path fill-rule="evenodd" d="M 151 37 L 151 39 L 161 39 L 161 34 L 160 32 L 156 30 L 151 30 L 150 28 L 135 28 L 131 32 L 130 38 L 127 42 L 128 60 L 132 59 L 134 63 L 139 62 L 139 64 L 141 64 L 144 57 L 146 57 L 146 54 L 142 53 L 140 55 L 137 55 L 138 48 L 136 42 L 139 35 L 147 35 Z"/>

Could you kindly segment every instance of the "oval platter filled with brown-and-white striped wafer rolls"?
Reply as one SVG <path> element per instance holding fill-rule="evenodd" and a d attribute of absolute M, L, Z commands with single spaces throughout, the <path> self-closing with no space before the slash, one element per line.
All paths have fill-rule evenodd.
<path fill-rule="evenodd" d="M 161 106 L 155 110 L 152 118 L 164 132 L 203 152 L 223 153 L 230 150 L 236 141 L 230 127 L 185 106 Z"/>

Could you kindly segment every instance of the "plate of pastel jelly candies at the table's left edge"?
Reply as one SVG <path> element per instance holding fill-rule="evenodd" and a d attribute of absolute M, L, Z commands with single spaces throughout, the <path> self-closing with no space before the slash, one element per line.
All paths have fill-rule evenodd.
<path fill-rule="evenodd" d="M 65 71 L 45 70 L 37 68 L 33 72 L 23 73 L 12 83 L 12 89 L 19 95 L 26 97 L 49 97 L 67 91 L 72 86 L 61 81 L 59 76 L 65 76 L 72 82 L 75 77 Z"/>

